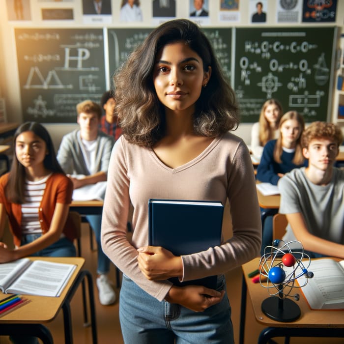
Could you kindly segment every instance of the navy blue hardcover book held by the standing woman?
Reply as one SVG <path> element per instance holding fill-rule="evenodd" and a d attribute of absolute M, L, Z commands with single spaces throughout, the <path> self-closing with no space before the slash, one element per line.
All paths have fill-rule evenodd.
<path fill-rule="evenodd" d="M 221 243 L 224 206 L 217 201 L 148 201 L 148 242 L 162 246 L 175 256 L 206 251 Z M 180 283 L 176 286 L 201 285 L 216 289 L 217 276 Z"/>

